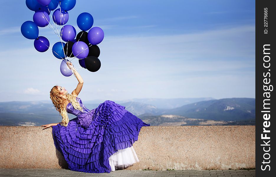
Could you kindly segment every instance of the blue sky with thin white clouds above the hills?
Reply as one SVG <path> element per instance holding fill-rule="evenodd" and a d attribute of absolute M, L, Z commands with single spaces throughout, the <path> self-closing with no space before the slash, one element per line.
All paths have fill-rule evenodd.
<path fill-rule="evenodd" d="M 55 85 L 71 93 L 78 81 L 60 73 L 62 60 L 51 50 L 60 38 L 39 27 L 50 48 L 38 52 L 20 31 L 34 11 L 24 0 L 0 4 L 0 102 L 50 100 Z M 67 22 L 77 33 L 82 12 L 104 30 L 97 72 L 72 60 L 84 80 L 83 101 L 255 98 L 255 1 L 77 0 Z"/>

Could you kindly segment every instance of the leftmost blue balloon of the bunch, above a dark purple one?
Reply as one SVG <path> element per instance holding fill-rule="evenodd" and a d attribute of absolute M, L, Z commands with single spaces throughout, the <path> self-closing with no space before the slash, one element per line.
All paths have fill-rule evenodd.
<path fill-rule="evenodd" d="M 38 37 L 38 27 L 32 21 L 26 21 L 21 25 L 21 33 L 27 39 L 36 39 Z"/>

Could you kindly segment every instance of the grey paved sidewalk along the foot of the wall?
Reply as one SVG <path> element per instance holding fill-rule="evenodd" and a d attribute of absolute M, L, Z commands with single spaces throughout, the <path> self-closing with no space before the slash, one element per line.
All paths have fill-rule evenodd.
<path fill-rule="evenodd" d="M 116 170 L 110 173 L 83 173 L 66 169 L 0 168 L 0 177 L 255 177 L 255 170 Z"/>

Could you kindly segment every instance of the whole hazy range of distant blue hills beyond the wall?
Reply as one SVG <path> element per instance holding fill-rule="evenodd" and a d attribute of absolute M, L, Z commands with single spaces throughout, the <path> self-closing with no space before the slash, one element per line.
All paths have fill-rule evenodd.
<path fill-rule="evenodd" d="M 202 99 L 207 99 L 202 101 Z M 145 102 L 156 101 L 156 105 Z M 144 103 L 136 101 L 117 102 L 132 114 L 151 125 L 229 125 L 229 124 L 255 124 L 255 99 L 231 98 L 213 99 L 201 98 L 201 101 L 185 104 L 184 100 L 177 104 L 182 106 L 173 109 L 159 108 L 157 105 L 171 105 L 170 101 L 178 99 L 142 99 Z M 195 101 L 190 99 L 189 101 Z M 187 100 L 186 100 L 187 101 Z M 83 101 L 88 109 L 94 109 L 99 103 Z M 69 119 L 75 118 L 68 114 Z M 0 125 L 22 126 L 57 123 L 61 121 L 59 112 L 51 101 L 10 101 L 0 102 Z"/>

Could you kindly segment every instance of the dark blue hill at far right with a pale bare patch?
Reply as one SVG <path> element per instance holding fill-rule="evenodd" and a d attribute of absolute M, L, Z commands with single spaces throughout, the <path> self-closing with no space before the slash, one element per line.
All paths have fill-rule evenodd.
<path fill-rule="evenodd" d="M 194 119 L 225 121 L 255 120 L 255 99 L 225 98 L 200 101 L 157 114 L 173 114 Z"/>

